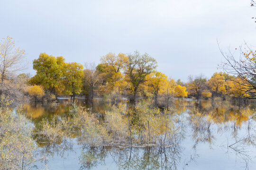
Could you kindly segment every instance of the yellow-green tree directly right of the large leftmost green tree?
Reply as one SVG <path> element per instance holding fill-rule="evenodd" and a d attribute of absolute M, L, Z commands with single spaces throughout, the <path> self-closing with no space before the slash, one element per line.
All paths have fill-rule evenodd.
<path fill-rule="evenodd" d="M 83 66 L 76 62 L 66 63 L 64 66 L 64 94 L 74 101 L 75 95 L 82 91 Z"/>

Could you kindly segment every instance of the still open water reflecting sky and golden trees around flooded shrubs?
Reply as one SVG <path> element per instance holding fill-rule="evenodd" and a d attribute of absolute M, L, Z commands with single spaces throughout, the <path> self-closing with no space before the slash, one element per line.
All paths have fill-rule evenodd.
<path fill-rule="evenodd" d="M 35 124 L 43 118 L 61 119 L 70 109 L 68 99 L 60 104 L 26 104 L 24 114 Z M 126 103 L 126 101 L 122 101 Z M 111 103 L 95 99 L 79 105 L 103 115 Z M 195 108 L 202 115 L 194 115 Z M 40 144 L 38 153 L 47 161 L 38 161 L 38 169 L 49 170 L 254 170 L 256 168 L 256 122 L 251 108 L 229 102 L 176 100 L 174 115 L 183 119 L 184 133 L 178 144 L 158 147 L 84 147 L 76 138 L 61 144 Z M 210 114 L 207 122 L 199 117 Z M 201 120 L 201 119 L 200 119 Z"/>

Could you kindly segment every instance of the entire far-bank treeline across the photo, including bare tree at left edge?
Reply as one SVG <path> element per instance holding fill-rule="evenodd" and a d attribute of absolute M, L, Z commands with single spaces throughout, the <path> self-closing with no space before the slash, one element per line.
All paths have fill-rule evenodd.
<path fill-rule="evenodd" d="M 117 55 L 108 53 L 101 57 L 101 63 L 97 66 L 68 63 L 63 57 L 41 53 L 33 61 L 37 73 L 31 78 L 25 74 L 15 76 L 26 68 L 21 64 L 26 54 L 24 50 L 15 48 L 12 38 L 3 39 L 0 52 L 0 103 L 6 97 L 24 100 L 22 94 L 28 94 L 35 101 L 51 101 L 61 95 L 68 95 L 71 100 L 77 95 L 89 100 L 99 96 L 112 101 L 127 97 L 135 103 L 139 98 L 151 98 L 155 105 L 168 106 L 174 97 L 197 100 L 210 97 L 248 98 L 254 93 L 254 84 L 243 76 L 245 74 L 231 76 L 219 72 L 209 80 L 204 76 L 189 76 L 187 83 L 174 81 L 156 70 L 157 62 L 153 57 L 138 51 Z M 247 56 L 245 53 L 245 59 L 254 61 Z"/>

